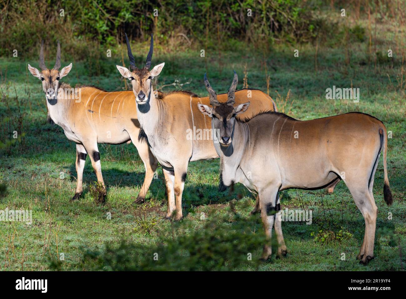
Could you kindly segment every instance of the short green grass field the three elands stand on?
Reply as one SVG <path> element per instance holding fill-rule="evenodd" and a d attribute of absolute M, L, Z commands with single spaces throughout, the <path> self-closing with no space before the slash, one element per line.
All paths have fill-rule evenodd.
<path fill-rule="evenodd" d="M 137 52 L 138 64 L 144 61 L 145 53 Z M 198 50 L 168 55 L 159 55 L 157 50 L 153 65 L 162 61 L 166 64 L 155 85 L 160 89 L 178 80 L 180 84 L 188 84 L 166 86 L 162 90 L 181 88 L 207 96 L 203 86 L 206 71 L 212 86 L 220 93 L 227 92 L 233 70 L 239 75 L 238 87 L 241 88 L 246 70 L 248 87 L 265 92 L 266 78 L 270 76 L 270 96 L 276 100 L 279 110 L 299 120 L 349 111 L 361 111 L 382 120 L 387 130 L 392 131 L 387 159 L 393 205 L 387 207 L 383 200 L 381 158 L 374 183 L 374 197 L 379 210 L 376 258 L 367 266 L 358 264 L 356 260 L 364 235 L 364 219 L 348 188 L 341 182 L 330 195 L 325 190 L 287 190 L 281 194 L 282 209 L 313 210 L 311 225 L 303 222 L 282 224 L 287 258 L 276 259 L 275 248 L 271 262 L 258 264 L 255 261 L 262 251 L 258 245 L 253 251 L 247 249 L 247 253 L 252 253 L 252 261 L 227 264 L 228 259 L 235 259 L 233 255 L 241 255 L 244 249 L 224 253 L 223 269 L 403 270 L 406 266 L 406 104 L 405 91 L 397 81 L 402 74 L 402 58 L 395 56 L 393 60 L 378 61 L 374 65 L 360 47 L 346 63 L 345 51 L 319 48 L 316 71 L 315 48 L 303 46 L 299 48 L 299 57 L 293 54 L 294 47 L 288 46 L 276 47 L 265 57 L 255 54 L 253 49 L 222 52 L 221 55 L 207 51 L 206 58 L 200 57 Z M 62 58 L 63 66 L 71 62 L 64 60 L 63 53 Z M 33 215 L 32 225 L 0 222 L 1 270 L 52 269 L 52 261 L 57 260 L 60 253 L 64 253 L 65 260 L 58 263 L 59 269 L 86 270 L 98 266 L 109 269 L 108 266 L 103 267 L 100 260 L 83 262 L 84 252 L 88 249 L 103 252 L 106 244 L 118 247 L 122 240 L 126 240 L 142 246 L 144 253 L 151 248 L 152 252 L 145 254 L 152 256 L 153 250 L 161 245 L 162 235 L 176 229 L 179 232 L 176 236 L 190 236 L 193 240 L 193 236 L 210 221 L 213 221 L 214 227 L 218 225 L 221 229 L 228 228 L 237 233 L 241 229 L 242 233 L 245 227 L 253 236 L 261 234 L 259 215 L 249 216 L 255 201 L 248 190 L 237 185 L 231 194 L 217 191 L 218 159 L 189 164 L 183 201 L 184 220 L 181 223 L 173 224 L 164 219 L 166 204 L 162 204 L 164 185 L 161 169 L 158 170 L 158 179 L 151 184 L 149 200 L 143 205 L 132 205 L 144 176 L 143 163 L 132 144 L 99 146 L 103 177 L 108 188 L 106 205 L 97 205 L 89 194 L 89 184 L 96 180 L 89 159 L 84 170 L 82 198 L 69 202 L 76 186 L 75 145 L 67 140 L 62 128 L 46 123 L 42 87 L 39 80 L 28 73 L 27 63 L 38 67 L 38 61 L 0 59 L 1 88 L 5 94 L 2 93 L 0 103 L 3 142 L 11 138 L 13 131 L 19 131 L 15 90 L 25 113 L 22 116 L 22 142 L 16 142 L 0 152 L 0 183 L 7 186 L 6 195 L 0 199 L 0 210 L 6 207 L 32 210 Z M 124 83 L 115 68 L 115 64 L 121 64 L 121 57 L 117 55 L 100 63 L 97 67 L 103 70 L 104 75 L 92 77 L 86 69 L 95 65 L 73 62 L 72 71 L 63 81 L 72 86 L 84 83 L 106 90 L 123 89 Z M 325 90 L 333 85 L 359 87 L 359 103 L 326 100 Z M 351 155 L 350 152 L 346 154 Z M 63 179 L 60 172 L 64 173 Z M 111 212 L 111 220 L 106 217 L 108 212 Z M 389 212 L 393 215 L 390 219 Z M 175 243 L 176 236 L 173 239 Z M 185 248 L 187 251 L 188 247 Z M 179 247 L 179 250 L 182 248 Z M 341 260 L 342 253 L 345 260 Z M 184 259 L 187 261 L 193 254 L 190 252 Z M 178 268 L 180 266 L 176 263 L 167 266 L 167 269 Z"/>

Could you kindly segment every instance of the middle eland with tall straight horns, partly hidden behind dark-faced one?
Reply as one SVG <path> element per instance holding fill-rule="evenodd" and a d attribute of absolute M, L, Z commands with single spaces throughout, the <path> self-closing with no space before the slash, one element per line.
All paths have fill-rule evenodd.
<path fill-rule="evenodd" d="M 151 152 L 162 164 L 168 194 L 166 218 L 173 216 L 173 220 L 180 220 L 182 192 L 189 162 L 218 158 L 212 141 L 213 132 L 209 128 L 210 118 L 202 115 L 197 108 L 198 103 L 209 104 L 209 97 L 199 98 L 185 91 L 155 96 L 151 80 L 160 74 L 164 63 L 149 70 L 153 52 L 152 35 L 147 63 L 143 68 L 136 67 L 130 42 L 127 35 L 125 37 L 131 71 L 120 65 L 117 65 L 117 69 L 124 78 L 132 82 L 134 103 L 142 128 L 140 140 L 146 140 Z M 251 107 L 246 111 L 244 115 L 246 117 L 253 116 L 259 111 L 276 109 L 272 98 L 258 89 L 242 89 L 235 92 L 237 103 L 244 103 L 248 98 L 251 100 Z M 225 101 L 227 94 L 219 94 L 218 99 Z"/>

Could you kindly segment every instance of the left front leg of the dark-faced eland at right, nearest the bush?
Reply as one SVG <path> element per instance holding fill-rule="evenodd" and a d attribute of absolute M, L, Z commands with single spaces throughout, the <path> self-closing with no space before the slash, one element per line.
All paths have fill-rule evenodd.
<path fill-rule="evenodd" d="M 278 187 L 270 186 L 259 192 L 259 205 L 261 207 L 261 219 L 265 231 L 266 243 L 263 247 L 261 260 L 266 261 L 271 257 L 272 227 L 276 214 L 276 196 Z"/>

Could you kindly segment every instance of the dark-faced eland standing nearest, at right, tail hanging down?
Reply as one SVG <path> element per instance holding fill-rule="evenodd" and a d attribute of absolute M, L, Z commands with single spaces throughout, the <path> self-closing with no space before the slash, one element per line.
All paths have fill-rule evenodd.
<path fill-rule="evenodd" d="M 234 74 L 228 100 L 220 103 L 205 75 L 212 107 L 198 104 L 199 110 L 212 118 L 213 131 L 218 134 L 219 143 L 214 147 L 220 156 L 223 189 L 233 183 L 242 183 L 259 195 L 266 237 L 270 241 L 274 225 L 278 255 L 285 255 L 279 192 L 289 188 L 321 189 L 342 179 L 365 219 L 364 240 L 357 258 L 367 264 L 374 258 L 378 208 L 372 186 L 382 152 L 384 200 L 388 205 L 392 204 L 384 124 L 360 112 L 300 121 L 268 111 L 239 120 L 236 116 L 244 113 L 250 102 L 234 106 L 237 80 L 237 74 Z M 272 253 L 269 244 L 264 245 L 263 260 L 268 260 Z"/>

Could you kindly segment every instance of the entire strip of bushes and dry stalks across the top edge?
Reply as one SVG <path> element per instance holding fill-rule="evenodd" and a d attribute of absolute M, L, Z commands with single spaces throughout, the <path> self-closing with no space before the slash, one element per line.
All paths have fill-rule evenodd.
<path fill-rule="evenodd" d="M 137 41 L 154 33 L 164 52 L 229 50 L 238 41 L 263 50 L 274 43 L 334 46 L 368 38 L 376 23 L 404 25 L 402 8 L 404 0 L 0 0 L 0 55 L 19 49 L 23 58 L 36 57 L 41 39 L 60 39 L 64 55 L 86 59 L 122 43 L 124 32 Z"/>

